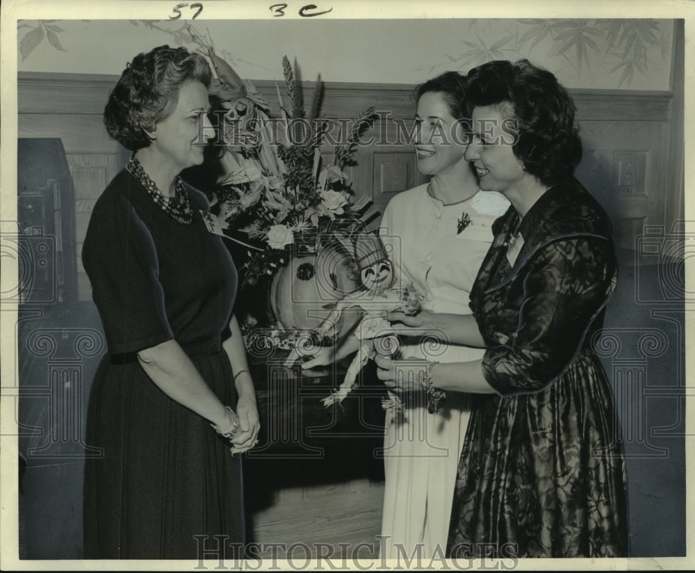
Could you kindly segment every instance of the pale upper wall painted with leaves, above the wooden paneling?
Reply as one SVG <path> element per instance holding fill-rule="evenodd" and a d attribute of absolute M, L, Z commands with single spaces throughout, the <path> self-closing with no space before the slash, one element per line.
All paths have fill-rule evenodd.
<path fill-rule="evenodd" d="M 98 42 L 92 40 L 90 34 L 97 34 L 95 38 L 101 37 L 101 33 L 96 30 L 103 31 L 104 26 L 111 26 L 111 29 L 106 31 L 107 38 L 117 40 L 131 34 L 133 45 L 146 46 L 147 39 L 152 38 L 154 45 L 169 43 L 189 49 L 198 48 L 182 21 L 97 20 L 92 26 L 84 26 L 82 22 L 89 21 L 19 20 L 19 64 L 26 70 L 33 71 L 70 70 L 83 73 L 76 70 L 75 62 L 81 61 L 79 54 L 92 54 L 99 49 Z M 414 42 L 408 39 L 411 38 L 411 34 L 400 33 L 401 24 L 387 22 L 384 24 L 384 30 L 388 30 L 384 31 L 387 41 L 379 46 L 389 45 L 389 49 L 384 49 L 383 53 L 378 54 L 373 50 L 380 47 L 372 47 L 370 42 L 372 38 L 379 37 L 377 31 L 382 29 L 381 24 L 369 19 L 354 22 L 354 25 L 365 29 L 361 40 L 361 58 L 350 60 L 341 51 L 332 52 L 332 47 L 314 50 L 300 42 L 300 47 L 306 48 L 306 53 L 302 55 L 303 65 L 307 66 L 307 69 L 311 69 L 309 66 L 318 68 L 319 72 L 332 70 L 335 81 L 383 82 L 383 70 L 386 67 L 391 74 L 391 79 L 386 81 L 418 83 L 445 70 L 468 72 L 471 67 L 489 60 L 528 58 L 555 73 L 558 79 L 569 87 L 653 89 L 653 86 L 658 85 L 664 86 L 661 89 L 668 89 L 673 44 L 673 20 L 669 19 L 465 18 L 423 19 L 417 22 L 403 20 L 404 31 L 416 31 L 421 37 L 429 38 L 432 41 L 431 45 L 425 50 L 416 51 Z M 259 51 L 257 46 L 254 48 L 254 42 L 258 38 L 275 38 L 277 35 L 278 40 L 284 38 L 284 42 L 287 38 L 304 38 L 301 34 L 282 32 L 284 27 L 277 29 L 278 33 L 268 35 L 267 26 L 270 24 L 261 20 L 247 21 L 241 28 L 235 28 L 235 23 L 231 21 L 196 21 L 195 25 L 199 26 L 203 33 L 208 31 L 208 26 L 218 29 L 218 38 L 221 40 L 220 45 L 215 46 L 215 51 L 231 65 L 245 68 L 247 76 L 256 79 L 278 79 L 275 76 L 277 59 L 272 59 L 272 65 L 268 63 L 274 45 L 272 42 L 265 42 L 265 48 Z M 332 25 L 341 29 L 342 24 L 336 21 Z M 230 30 L 234 30 L 234 33 L 229 33 Z M 324 35 L 339 46 L 344 37 L 341 33 Z M 350 33 L 354 35 L 354 30 Z M 111 73 L 120 72 L 122 61 L 131 54 L 127 53 L 126 47 L 120 45 L 115 49 L 109 49 L 109 52 Z M 114 55 L 121 52 L 122 58 L 116 60 Z M 365 59 L 364 54 L 370 55 Z M 394 62 L 393 54 L 399 54 L 402 58 Z M 384 67 L 368 65 L 372 61 L 368 58 L 374 55 L 381 58 L 379 61 Z M 44 62 L 39 61 L 42 59 Z M 50 62 L 50 66 L 45 62 Z M 92 72 L 103 73 L 101 68 L 94 71 L 95 65 L 91 62 L 88 64 L 92 66 Z M 331 67 L 332 64 L 334 67 Z M 345 67 L 349 68 L 348 72 L 343 72 Z M 342 75 L 345 73 L 350 76 L 349 80 L 343 79 Z"/>

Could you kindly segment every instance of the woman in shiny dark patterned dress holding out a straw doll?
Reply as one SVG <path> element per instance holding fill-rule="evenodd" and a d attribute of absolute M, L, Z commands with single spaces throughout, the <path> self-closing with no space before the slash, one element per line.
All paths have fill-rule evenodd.
<path fill-rule="evenodd" d="M 592 348 L 617 267 L 610 222 L 573 177 L 582 155 L 573 102 L 527 60 L 476 67 L 467 93 L 466 159 L 480 188 L 512 207 L 493 226 L 470 320 L 391 319 L 486 351 L 463 364 L 379 357 L 379 376 L 409 389 L 404 373 L 414 369 L 433 406 L 441 390 L 473 393 L 450 556 L 626 556 L 625 467 L 612 391 Z"/>

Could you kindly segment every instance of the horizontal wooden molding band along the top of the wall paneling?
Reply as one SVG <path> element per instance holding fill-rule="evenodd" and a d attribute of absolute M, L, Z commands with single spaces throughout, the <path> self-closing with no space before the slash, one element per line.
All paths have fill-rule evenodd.
<path fill-rule="evenodd" d="M 17 106 L 20 114 L 101 115 L 118 76 L 19 72 Z M 254 86 L 279 115 L 276 82 L 254 81 Z M 284 83 L 277 82 L 284 94 Z M 316 82 L 302 82 L 304 101 L 311 102 Z M 365 102 L 391 111 L 394 118 L 413 116 L 413 88 L 409 84 L 325 82 L 323 111 L 327 117 L 357 116 Z M 580 120 L 669 121 L 673 94 L 668 91 L 569 90 Z"/>

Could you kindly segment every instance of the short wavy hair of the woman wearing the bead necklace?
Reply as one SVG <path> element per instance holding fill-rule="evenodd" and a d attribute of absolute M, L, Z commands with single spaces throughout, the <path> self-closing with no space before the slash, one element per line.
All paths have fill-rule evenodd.
<path fill-rule="evenodd" d="M 106 131 L 128 150 L 147 147 L 145 129 L 151 131 L 172 113 L 187 81 L 199 81 L 210 88 L 212 72 L 204 56 L 169 46 L 138 54 L 108 96 Z"/>

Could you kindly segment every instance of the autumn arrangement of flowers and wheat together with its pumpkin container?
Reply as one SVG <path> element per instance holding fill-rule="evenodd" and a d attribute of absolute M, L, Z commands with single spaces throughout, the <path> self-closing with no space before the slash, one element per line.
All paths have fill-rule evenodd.
<path fill-rule="evenodd" d="M 190 31 L 192 35 L 195 33 L 192 26 Z M 303 346 L 331 344 L 338 331 L 349 334 L 357 330 L 361 339 L 370 337 L 364 321 L 359 321 L 360 328 L 357 328 L 351 318 L 341 320 L 346 307 L 357 307 L 368 316 L 374 314 L 368 299 L 376 302 L 381 312 L 394 307 L 419 307 L 420 298 L 411 289 L 399 287 L 384 292 L 382 287 L 376 288 L 374 277 L 383 280 L 384 273 L 391 277 L 390 263 L 387 264 L 378 237 L 366 232 L 365 223 L 375 213 L 366 212 L 369 203 L 366 198 L 354 201 L 345 174 L 346 166 L 356 164 L 357 143 L 362 132 L 373 124 L 374 108 L 354 118 L 350 129 L 341 122 L 340 143 L 334 148 L 333 161 L 323 166 L 320 147 L 325 118 L 320 115 L 323 97 L 320 76 L 306 114 L 299 70 L 296 63 L 292 66 L 284 56 L 282 67 L 288 104 L 277 88 L 281 122 L 271 122 L 270 106 L 252 83 L 241 80 L 215 55 L 211 40 L 206 41 L 200 35 L 195 38 L 213 62 L 219 81 L 211 96 L 224 110 L 223 122 L 218 127 L 224 143 L 219 158 L 222 173 L 214 189 L 215 214 L 209 213 L 206 218 L 208 228 L 234 241 L 237 239 L 222 232 L 223 229 L 240 229 L 247 234 L 249 239 L 244 244 L 249 250 L 243 266 L 243 286 L 265 281 L 270 286 L 269 302 L 275 314 L 258 318 L 244 313 L 239 316 L 247 348 L 257 346 L 261 353 L 288 350 L 286 362 L 291 364 L 302 354 Z M 272 129 L 278 126 L 279 133 Z M 316 298 L 316 290 L 311 286 L 318 284 L 321 271 L 327 273 L 328 282 L 332 283 L 333 303 L 329 305 L 320 296 Z M 308 300 L 297 302 L 297 292 L 287 289 L 288 280 L 299 282 L 295 286 L 300 291 L 307 289 L 304 292 Z M 288 292 L 293 295 L 289 300 Z M 293 314 L 295 308 L 299 311 Z M 300 320 L 299 315 L 306 314 L 306 309 L 311 309 L 313 316 L 324 309 L 330 318 L 317 329 L 320 320 L 311 325 Z M 371 348 L 370 343 L 364 344 Z M 369 355 L 370 351 L 366 350 L 365 360 Z M 357 364 L 352 366 L 352 371 L 359 371 Z M 349 392 L 353 383 L 354 378 L 350 381 L 348 376 L 341 393 L 336 394 L 336 401 Z"/>

